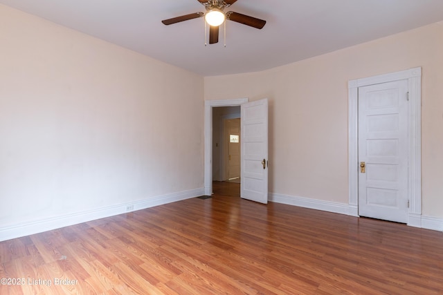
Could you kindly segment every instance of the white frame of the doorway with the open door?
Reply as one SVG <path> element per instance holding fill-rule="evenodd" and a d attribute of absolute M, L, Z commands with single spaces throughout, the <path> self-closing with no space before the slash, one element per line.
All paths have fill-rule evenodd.
<path fill-rule="evenodd" d="M 219 106 L 241 106 L 248 101 L 248 98 L 205 100 L 204 189 L 206 196 L 210 196 L 213 193 L 213 108 Z"/>

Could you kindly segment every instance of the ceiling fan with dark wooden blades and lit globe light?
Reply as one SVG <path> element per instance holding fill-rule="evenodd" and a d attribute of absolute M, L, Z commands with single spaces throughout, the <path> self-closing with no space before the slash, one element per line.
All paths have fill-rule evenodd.
<path fill-rule="evenodd" d="M 173 17 L 172 19 L 165 19 L 161 21 L 165 25 L 172 25 L 172 23 L 179 23 L 181 21 L 188 21 L 190 19 L 197 19 L 205 17 L 206 23 L 209 25 L 209 44 L 215 44 L 219 41 L 219 26 L 224 23 L 226 19 L 242 23 L 246 26 L 261 29 L 266 24 L 266 21 L 242 15 L 238 12 L 224 12 L 225 8 L 233 5 L 237 0 L 197 0 L 205 6 L 206 12 L 195 12 L 189 15 L 182 15 L 181 17 Z"/>

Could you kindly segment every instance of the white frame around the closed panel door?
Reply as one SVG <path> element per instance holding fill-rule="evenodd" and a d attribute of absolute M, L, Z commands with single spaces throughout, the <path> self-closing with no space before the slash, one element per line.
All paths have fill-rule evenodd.
<path fill-rule="evenodd" d="M 408 225 L 422 227 L 422 68 L 348 82 L 349 214 L 359 216 L 358 90 L 361 86 L 408 79 Z"/>

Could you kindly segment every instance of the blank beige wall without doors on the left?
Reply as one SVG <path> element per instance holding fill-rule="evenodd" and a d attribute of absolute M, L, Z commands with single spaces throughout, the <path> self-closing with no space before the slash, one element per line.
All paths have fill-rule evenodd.
<path fill-rule="evenodd" d="M 0 229 L 203 188 L 203 77 L 7 6 L 0 23 Z"/>

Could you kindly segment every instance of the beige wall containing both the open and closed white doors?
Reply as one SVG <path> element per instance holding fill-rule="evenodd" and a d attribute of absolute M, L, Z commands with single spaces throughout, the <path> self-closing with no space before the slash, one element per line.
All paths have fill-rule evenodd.
<path fill-rule="evenodd" d="M 269 191 L 346 204 L 348 80 L 417 66 L 422 210 L 443 217 L 443 23 L 260 73 L 206 77 L 205 99 L 269 97 Z"/>

